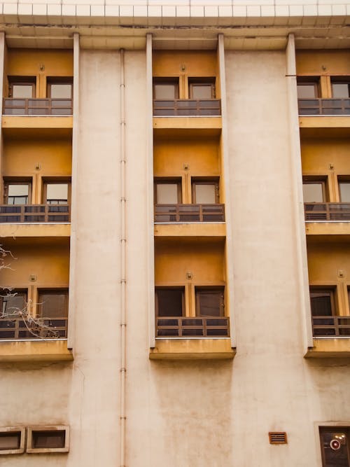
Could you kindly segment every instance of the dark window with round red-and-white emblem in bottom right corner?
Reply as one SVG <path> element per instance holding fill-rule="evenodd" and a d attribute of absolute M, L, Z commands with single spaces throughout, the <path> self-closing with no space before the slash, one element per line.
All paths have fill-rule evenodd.
<path fill-rule="evenodd" d="M 322 467 L 349 467 L 348 426 L 327 426 L 319 428 L 322 454 Z"/>

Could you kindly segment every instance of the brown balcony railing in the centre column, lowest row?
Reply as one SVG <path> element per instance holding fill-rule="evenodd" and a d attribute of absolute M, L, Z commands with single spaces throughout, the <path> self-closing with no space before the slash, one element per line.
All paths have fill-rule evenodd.
<path fill-rule="evenodd" d="M 156 319 L 156 337 L 230 337 L 230 318 L 166 316 Z"/>

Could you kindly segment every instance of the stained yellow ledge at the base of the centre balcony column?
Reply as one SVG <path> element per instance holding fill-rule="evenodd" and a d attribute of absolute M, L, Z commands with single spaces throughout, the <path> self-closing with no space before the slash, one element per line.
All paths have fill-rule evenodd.
<path fill-rule="evenodd" d="M 230 339 L 156 339 L 150 349 L 151 360 L 211 360 L 232 359 Z"/>

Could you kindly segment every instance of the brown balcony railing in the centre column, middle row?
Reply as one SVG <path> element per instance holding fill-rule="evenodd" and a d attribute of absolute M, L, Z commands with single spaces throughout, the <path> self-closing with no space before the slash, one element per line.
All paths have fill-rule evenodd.
<path fill-rule="evenodd" d="M 225 205 L 155 204 L 155 222 L 225 222 Z"/>

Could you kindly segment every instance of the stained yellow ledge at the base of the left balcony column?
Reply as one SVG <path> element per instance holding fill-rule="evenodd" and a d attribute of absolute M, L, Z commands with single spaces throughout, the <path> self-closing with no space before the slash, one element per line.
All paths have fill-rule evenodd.
<path fill-rule="evenodd" d="M 71 361 L 66 340 L 1 341 L 0 363 L 13 361 Z"/>

